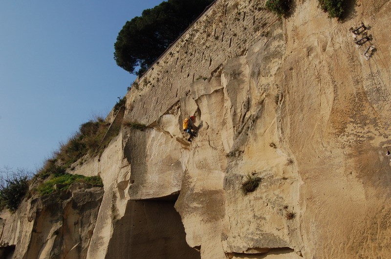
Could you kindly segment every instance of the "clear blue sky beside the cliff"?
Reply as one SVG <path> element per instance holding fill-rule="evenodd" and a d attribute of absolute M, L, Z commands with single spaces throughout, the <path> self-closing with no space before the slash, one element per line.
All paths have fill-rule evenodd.
<path fill-rule="evenodd" d="M 162 1 L 1 2 L 0 168 L 35 170 L 108 114 L 135 79 L 113 59 L 118 32 Z"/>

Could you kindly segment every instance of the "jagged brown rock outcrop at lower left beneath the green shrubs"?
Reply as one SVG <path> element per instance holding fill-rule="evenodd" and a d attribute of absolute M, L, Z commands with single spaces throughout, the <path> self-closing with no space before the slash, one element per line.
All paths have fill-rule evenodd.
<path fill-rule="evenodd" d="M 103 188 L 72 184 L 69 190 L 25 200 L 12 215 L 3 212 L 4 256 L 86 258 L 102 196 Z"/>

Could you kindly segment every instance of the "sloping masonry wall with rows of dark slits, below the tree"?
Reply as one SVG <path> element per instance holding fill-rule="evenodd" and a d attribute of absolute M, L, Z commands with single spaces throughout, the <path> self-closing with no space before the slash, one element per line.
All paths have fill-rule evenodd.
<path fill-rule="evenodd" d="M 217 0 L 141 76 L 139 89 L 128 92 L 125 118 L 151 124 L 188 94 L 191 83 L 214 76 L 227 60 L 245 55 L 278 20 L 263 1 Z"/>

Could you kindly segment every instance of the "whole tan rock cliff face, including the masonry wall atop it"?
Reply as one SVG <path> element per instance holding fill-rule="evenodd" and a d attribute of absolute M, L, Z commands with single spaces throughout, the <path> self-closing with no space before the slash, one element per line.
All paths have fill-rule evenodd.
<path fill-rule="evenodd" d="M 101 205 L 53 205 L 62 225 L 39 213 L 2 216 L 3 253 L 391 258 L 391 1 L 357 0 L 343 22 L 315 0 L 295 1 L 286 19 L 262 6 L 217 0 L 110 118 L 147 129 L 123 126 L 73 171 L 102 177 Z M 358 45 L 364 32 L 350 28 L 361 22 L 370 40 Z M 189 115 L 200 126 L 191 143 L 181 129 Z M 243 194 L 248 176 L 261 182 Z M 44 211 L 45 202 L 56 201 L 23 206 Z M 67 219 L 76 217 L 96 223 L 76 228 Z M 72 238 L 56 238 L 58 229 Z"/>

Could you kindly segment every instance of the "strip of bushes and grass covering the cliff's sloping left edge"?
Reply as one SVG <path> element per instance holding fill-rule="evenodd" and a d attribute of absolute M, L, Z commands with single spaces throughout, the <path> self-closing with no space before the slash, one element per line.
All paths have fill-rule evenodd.
<path fill-rule="evenodd" d="M 83 164 L 87 154 L 98 154 L 118 134 L 120 128 L 110 130 L 110 136 L 106 136 L 108 129 L 109 123 L 99 117 L 82 124 L 68 142 L 60 143 L 59 150 L 45 161 L 34 177 L 33 173 L 27 174 L 23 170 L 0 170 L 0 210 L 7 208 L 12 212 L 16 211 L 29 189 L 30 194 L 43 195 L 66 190 L 74 182 L 103 186 L 99 176 L 69 174 L 66 170 L 73 170 L 72 164 L 78 160 L 80 165 Z"/>

